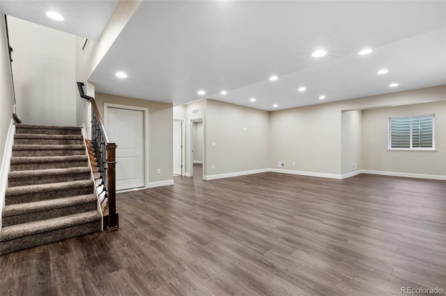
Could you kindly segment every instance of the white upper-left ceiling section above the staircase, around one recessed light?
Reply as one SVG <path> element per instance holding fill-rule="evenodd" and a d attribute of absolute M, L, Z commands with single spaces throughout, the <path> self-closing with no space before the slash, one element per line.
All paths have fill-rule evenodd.
<path fill-rule="evenodd" d="M 91 40 L 99 40 L 118 0 L 47 1 L 1 0 L 0 11 L 29 22 L 55 28 Z M 63 22 L 49 19 L 45 13 L 55 11 L 65 17 Z"/>

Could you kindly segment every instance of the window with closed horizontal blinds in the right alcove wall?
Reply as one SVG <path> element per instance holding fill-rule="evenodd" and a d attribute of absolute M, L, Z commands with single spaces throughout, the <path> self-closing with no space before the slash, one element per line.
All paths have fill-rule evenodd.
<path fill-rule="evenodd" d="M 435 115 L 389 118 L 390 150 L 435 150 Z"/>

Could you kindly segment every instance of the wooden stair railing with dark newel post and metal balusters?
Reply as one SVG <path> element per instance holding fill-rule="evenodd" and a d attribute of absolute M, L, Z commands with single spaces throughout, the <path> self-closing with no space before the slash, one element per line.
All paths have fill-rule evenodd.
<path fill-rule="evenodd" d="M 110 142 L 95 99 L 84 93 L 84 83 L 77 82 L 77 88 L 81 97 L 91 102 L 91 146 L 93 147 L 96 163 L 98 163 L 98 171 L 109 211 L 108 222 L 105 221 L 107 222 L 105 229 L 114 231 L 118 229 L 116 214 L 116 143 Z"/>

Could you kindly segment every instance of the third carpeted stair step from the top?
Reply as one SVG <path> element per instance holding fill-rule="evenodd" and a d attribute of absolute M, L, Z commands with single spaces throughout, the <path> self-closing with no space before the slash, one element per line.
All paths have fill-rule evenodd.
<path fill-rule="evenodd" d="M 85 155 L 84 145 L 13 145 L 13 157 Z"/>

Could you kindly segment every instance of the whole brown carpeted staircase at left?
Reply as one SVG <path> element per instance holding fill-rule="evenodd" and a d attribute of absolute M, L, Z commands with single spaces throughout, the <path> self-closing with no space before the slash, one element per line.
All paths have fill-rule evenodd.
<path fill-rule="evenodd" d="M 0 254 L 101 231 L 82 131 L 16 124 Z"/>

